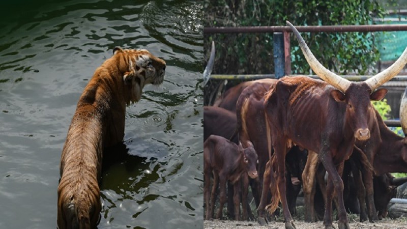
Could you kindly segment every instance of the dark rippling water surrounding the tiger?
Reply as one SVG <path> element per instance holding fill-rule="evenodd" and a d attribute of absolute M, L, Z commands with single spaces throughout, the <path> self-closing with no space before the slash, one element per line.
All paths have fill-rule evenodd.
<path fill-rule="evenodd" d="M 115 46 L 167 63 L 108 150 L 99 228 L 203 227 L 201 5 L 0 3 L 0 228 L 56 228 L 59 162 L 78 98 Z"/>

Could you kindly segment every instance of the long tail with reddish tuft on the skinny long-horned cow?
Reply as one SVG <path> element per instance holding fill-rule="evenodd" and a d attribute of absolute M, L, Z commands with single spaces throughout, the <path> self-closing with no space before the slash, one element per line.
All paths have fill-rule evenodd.
<path fill-rule="evenodd" d="M 271 204 L 266 206 L 266 210 L 269 214 L 273 214 L 279 203 L 280 199 L 280 193 L 278 192 L 277 188 L 277 182 L 274 177 L 274 168 L 273 168 L 273 159 L 274 155 L 271 155 L 271 131 L 270 131 L 270 125 L 269 125 L 269 119 L 267 118 L 267 113 L 265 111 L 265 120 L 266 120 L 266 134 L 267 134 L 267 146 L 269 150 L 269 166 L 270 166 L 270 192 L 271 192 Z"/>

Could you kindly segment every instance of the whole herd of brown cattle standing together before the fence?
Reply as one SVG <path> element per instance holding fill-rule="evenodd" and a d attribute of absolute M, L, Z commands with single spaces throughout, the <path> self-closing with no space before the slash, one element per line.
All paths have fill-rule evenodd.
<path fill-rule="evenodd" d="M 350 228 L 349 211 L 359 213 L 361 221 L 382 219 L 395 188 L 407 181 L 390 175 L 407 173 L 407 138 L 389 130 L 370 101 L 386 95 L 379 87 L 404 68 L 407 48 L 385 71 L 351 82 L 322 66 L 287 24 L 323 80 L 286 76 L 247 81 L 204 107 L 205 219 L 214 217 L 219 184 L 216 218 L 222 217 L 227 199 L 229 217 L 253 219 L 250 186 L 262 225 L 280 205 L 285 228 L 296 228 L 292 214 L 301 188 L 306 221 L 323 220 L 326 228 L 334 228 L 333 207 L 338 228 Z M 400 106 L 404 133 L 406 92 Z"/>

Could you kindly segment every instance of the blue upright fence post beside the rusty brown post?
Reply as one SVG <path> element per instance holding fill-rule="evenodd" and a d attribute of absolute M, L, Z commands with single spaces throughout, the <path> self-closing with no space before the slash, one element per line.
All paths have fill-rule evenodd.
<path fill-rule="evenodd" d="M 283 33 L 273 33 L 274 41 L 274 74 L 276 79 L 285 75 L 284 65 L 284 36 Z"/>

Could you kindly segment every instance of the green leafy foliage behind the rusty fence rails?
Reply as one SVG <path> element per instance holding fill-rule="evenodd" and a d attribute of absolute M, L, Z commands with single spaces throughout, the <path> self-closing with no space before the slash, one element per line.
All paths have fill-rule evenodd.
<path fill-rule="evenodd" d="M 384 10 L 374 1 L 206 0 L 204 26 L 353 25 L 372 24 Z M 273 73 L 273 34 L 205 34 L 204 49 L 216 44 L 214 72 Z M 302 33 L 310 49 L 327 68 L 338 74 L 367 74 L 379 60 L 371 33 Z M 309 73 L 309 65 L 291 37 L 292 72 Z"/>

